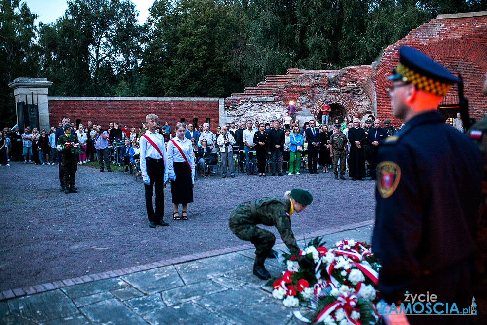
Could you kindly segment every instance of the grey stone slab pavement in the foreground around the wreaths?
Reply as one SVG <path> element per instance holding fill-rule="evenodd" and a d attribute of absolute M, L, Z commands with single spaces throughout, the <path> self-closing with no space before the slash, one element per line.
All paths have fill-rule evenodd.
<path fill-rule="evenodd" d="M 348 226 L 355 227 L 325 229 L 305 238 L 324 234 L 328 248 L 341 239 L 370 242 L 372 221 Z M 287 251 L 282 241 L 276 243 L 274 249 Z M 298 244 L 304 246 L 304 240 Z M 274 299 L 266 281 L 252 274 L 255 255 L 250 247 L 244 244 L 241 250 L 199 259 L 196 254 L 194 260 L 181 263 L 182 257 L 172 265 L 152 264 L 144 271 L 139 266 L 139 271 L 105 272 L 80 279 L 80 284 L 70 279 L 52 287 L 30 287 L 32 293 L 41 288 L 42 293 L 3 291 L 0 325 L 298 324 L 293 309 Z M 267 260 L 266 267 L 273 276 L 285 270 L 278 260 Z M 22 296 L 15 298 L 16 294 Z"/>

